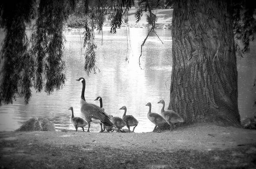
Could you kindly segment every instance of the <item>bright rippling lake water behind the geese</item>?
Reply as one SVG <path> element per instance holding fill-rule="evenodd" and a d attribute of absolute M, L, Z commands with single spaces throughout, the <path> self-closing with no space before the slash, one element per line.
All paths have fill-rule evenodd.
<path fill-rule="evenodd" d="M 138 65 L 140 46 L 149 30 L 130 28 L 128 41 L 126 28 L 121 28 L 117 34 L 109 34 L 109 30 L 109 27 L 103 29 L 103 45 L 101 34 L 96 34 L 96 64 L 100 72 L 89 77 L 83 71 L 84 56 L 81 57 L 79 31 L 65 32 L 65 86 L 53 95 L 33 92 L 29 105 L 24 105 L 23 99 L 17 99 L 13 105 L 1 106 L 0 131 L 18 129 L 24 121 L 35 116 L 49 118 L 55 123 L 56 130 L 74 129 L 68 108 L 73 106 L 74 115 L 83 117 L 79 111 L 82 83 L 75 80 L 79 77 L 85 77 L 86 80 L 87 102 L 99 105 L 99 101 L 94 99 L 101 96 L 106 112 L 119 117 L 124 113 L 124 110 L 119 109 L 127 106 L 127 115 L 133 115 L 139 121 L 135 132 L 152 131 L 154 125 L 147 119 L 148 106 L 145 105 L 151 102 L 152 112 L 157 113 L 160 113 L 162 106 L 157 104 L 159 100 L 164 99 L 168 105 L 172 69 L 171 31 L 156 29 L 164 44 L 154 34 L 148 37 L 143 47 L 141 70 Z M 256 78 L 255 46 L 256 43 L 253 43 L 250 54 L 238 58 L 238 106 L 241 118 L 256 113 L 256 107 L 253 107 L 253 100 L 256 99 L 256 89 L 253 89 Z M 100 125 L 92 123 L 90 130 L 99 132 Z"/>

